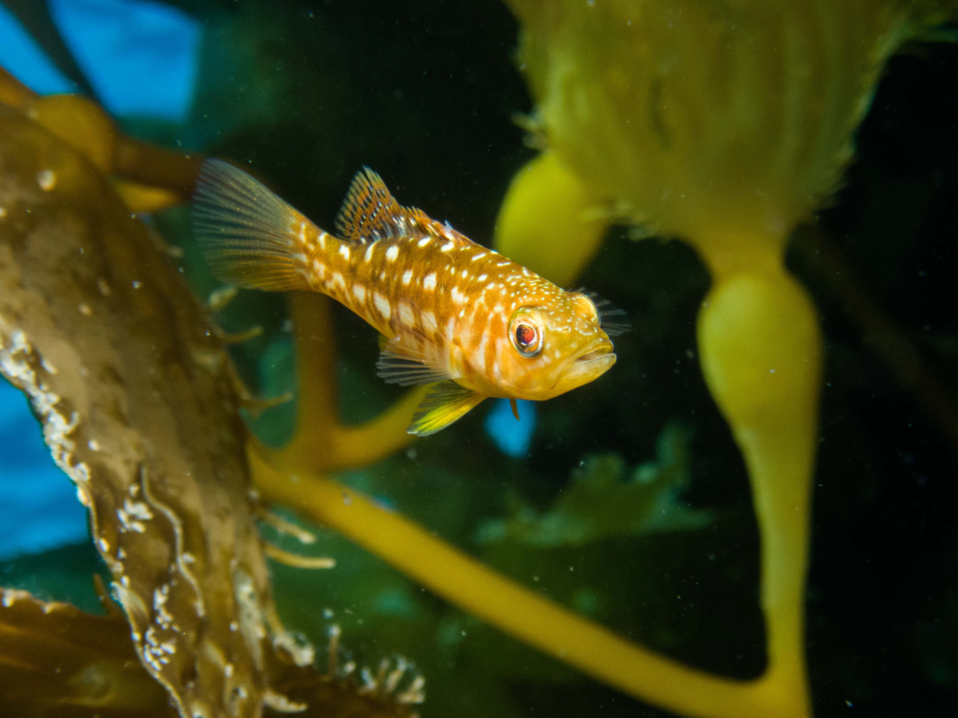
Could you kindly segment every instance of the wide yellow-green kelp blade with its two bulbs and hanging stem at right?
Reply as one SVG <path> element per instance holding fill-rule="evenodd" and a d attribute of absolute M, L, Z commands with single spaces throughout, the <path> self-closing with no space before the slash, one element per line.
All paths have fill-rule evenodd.
<path fill-rule="evenodd" d="M 683 713 L 808 715 L 804 582 L 822 340 L 808 292 L 785 268 L 786 242 L 837 187 L 885 60 L 954 8 L 511 6 L 536 95 L 531 125 L 547 150 L 513 182 L 498 245 L 563 279 L 592 253 L 597 215 L 695 247 L 713 278 L 698 316 L 702 372 L 741 449 L 762 534 L 761 677 L 712 682 L 638 655 L 625 671 L 604 670 Z M 565 206 L 559 219 L 536 213 L 546 194 Z M 555 253 L 558 242 L 570 251 L 553 254 L 553 267 L 542 248 Z"/>

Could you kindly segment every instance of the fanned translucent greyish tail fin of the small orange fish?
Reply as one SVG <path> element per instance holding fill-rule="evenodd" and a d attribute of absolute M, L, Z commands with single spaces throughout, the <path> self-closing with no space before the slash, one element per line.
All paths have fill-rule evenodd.
<path fill-rule="evenodd" d="M 203 163 L 193 231 L 220 280 L 274 292 L 309 288 L 303 242 L 319 229 L 241 169 Z"/>

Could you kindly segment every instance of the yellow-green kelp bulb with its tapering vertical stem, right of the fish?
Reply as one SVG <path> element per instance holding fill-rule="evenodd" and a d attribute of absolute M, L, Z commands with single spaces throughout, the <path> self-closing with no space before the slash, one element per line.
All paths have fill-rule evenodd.
<path fill-rule="evenodd" d="M 707 247 L 697 245 L 708 260 Z M 716 283 L 698 316 L 702 371 L 741 449 L 762 539 L 767 666 L 761 683 L 810 714 L 805 575 L 822 341 L 815 308 L 784 267 L 761 262 Z"/>

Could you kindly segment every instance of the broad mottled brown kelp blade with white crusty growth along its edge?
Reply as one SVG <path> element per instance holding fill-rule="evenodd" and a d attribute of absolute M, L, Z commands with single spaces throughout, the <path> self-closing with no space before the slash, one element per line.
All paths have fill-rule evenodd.
<path fill-rule="evenodd" d="M 9 77 L 4 83 L 7 98 L 31 100 Z M 43 106 L 51 103 L 69 108 L 71 99 Z M 147 703 L 155 696 L 136 690 L 140 679 L 125 659 L 135 650 L 184 716 L 257 716 L 264 705 L 401 712 L 388 699 L 404 668 L 388 685 L 374 681 L 368 698 L 349 683 L 341 688 L 338 668 L 326 681 L 309 673 L 313 649 L 285 631 L 272 605 L 220 333 L 165 245 L 98 166 L 97 148 L 115 137 L 109 121 L 98 132 L 60 111 L 65 122 L 52 123 L 62 132 L 85 130 L 66 144 L 31 119 L 40 116 L 49 117 L 0 106 L 0 370 L 29 397 L 57 465 L 89 509 L 132 642 L 117 639 L 111 619 L 100 637 L 109 645 L 96 648 L 87 619 L 56 604 L 38 611 L 29 596 L 8 592 L 6 608 L 49 616 L 23 619 L 34 633 L 16 641 L 9 667 L 42 696 L 58 655 L 72 655 L 64 666 L 77 672 L 64 680 L 74 681 L 74 695 L 61 698 L 91 709 L 138 709 L 128 691 Z M 92 160 L 74 148 L 87 145 Z M 54 640 L 44 661 L 43 641 L 62 632 L 63 617 L 76 618 L 69 631 L 79 633 Z M 84 655 L 85 667 L 75 660 Z M 107 690 L 103 682 L 123 685 Z M 281 684 L 285 693 L 272 687 Z M 417 695 L 414 688 L 408 698 Z"/>

